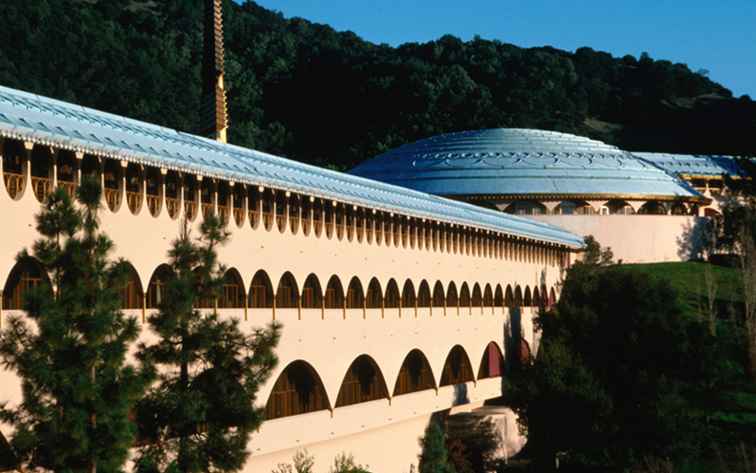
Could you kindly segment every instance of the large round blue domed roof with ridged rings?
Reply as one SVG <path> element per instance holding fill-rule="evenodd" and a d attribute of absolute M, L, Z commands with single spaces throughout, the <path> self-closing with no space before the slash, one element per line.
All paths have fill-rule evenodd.
<path fill-rule="evenodd" d="M 627 151 L 543 130 L 439 135 L 396 148 L 351 172 L 446 196 L 701 198 L 684 181 Z"/>

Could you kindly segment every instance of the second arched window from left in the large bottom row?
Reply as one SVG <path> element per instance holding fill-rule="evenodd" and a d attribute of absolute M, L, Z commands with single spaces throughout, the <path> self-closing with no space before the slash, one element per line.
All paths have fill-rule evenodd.
<path fill-rule="evenodd" d="M 336 407 L 360 402 L 388 399 L 388 389 L 378 364 L 368 355 L 360 355 L 347 370 L 341 382 Z"/>

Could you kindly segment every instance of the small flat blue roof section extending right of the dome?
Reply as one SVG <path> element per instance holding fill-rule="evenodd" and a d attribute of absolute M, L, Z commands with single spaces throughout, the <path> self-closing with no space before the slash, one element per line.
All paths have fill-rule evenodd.
<path fill-rule="evenodd" d="M 637 153 L 635 156 L 678 176 L 741 176 L 735 156 L 704 154 Z"/>

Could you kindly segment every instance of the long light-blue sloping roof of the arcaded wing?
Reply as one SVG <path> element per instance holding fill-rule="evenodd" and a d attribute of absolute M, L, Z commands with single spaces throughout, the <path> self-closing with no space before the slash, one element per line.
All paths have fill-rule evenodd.
<path fill-rule="evenodd" d="M 559 227 L 0 86 L 0 135 L 581 247 Z"/>

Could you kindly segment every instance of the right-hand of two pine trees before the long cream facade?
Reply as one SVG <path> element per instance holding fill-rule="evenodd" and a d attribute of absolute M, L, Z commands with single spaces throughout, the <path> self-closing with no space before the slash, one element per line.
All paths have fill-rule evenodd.
<path fill-rule="evenodd" d="M 226 268 L 218 263 L 217 248 L 228 238 L 211 217 L 197 240 L 185 226 L 169 252 L 173 277 L 158 313 L 149 318 L 157 340 L 139 355 L 160 373 L 137 409 L 141 472 L 237 471 L 249 455 L 251 432 L 262 423 L 254 402 L 276 365 L 280 327 L 247 335 L 237 320 L 196 309 L 222 287 Z"/>

